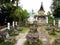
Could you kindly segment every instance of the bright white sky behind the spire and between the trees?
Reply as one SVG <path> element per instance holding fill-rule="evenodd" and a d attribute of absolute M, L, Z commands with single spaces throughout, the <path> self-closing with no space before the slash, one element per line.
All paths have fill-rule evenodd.
<path fill-rule="evenodd" d="M 40 9 L 41 2 L 43 2 L 43 7 L 46 12 L 50 11 L 50 6 L 52 4 L 52 0 L 20 0 L 20 6 L 23 7 L 23 9 L 28 10 L 29 12 L 32 11 L 32 9 L 36 12 Z"/>

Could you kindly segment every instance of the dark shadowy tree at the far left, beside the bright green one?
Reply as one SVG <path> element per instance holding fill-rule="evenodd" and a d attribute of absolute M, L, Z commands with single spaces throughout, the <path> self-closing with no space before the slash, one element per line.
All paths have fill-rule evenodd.
<path fill-rule="evenodd" d="M 2 19 L 0 20 L 2 22 L 0 24 L 4 25 L 7 24 L 7 22 L 12 23 L 13 19 L 10 17 L 10 13 L 15 9 L 13 2 L 15 2 L 15 0 L 0 0 L 0 18 Z"/>

